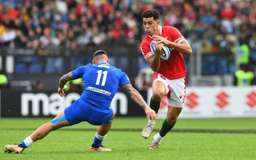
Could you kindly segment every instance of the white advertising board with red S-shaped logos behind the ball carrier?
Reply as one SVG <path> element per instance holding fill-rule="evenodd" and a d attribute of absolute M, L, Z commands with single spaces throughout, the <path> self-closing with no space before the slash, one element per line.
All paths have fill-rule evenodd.
<path fill-rule="evenodd" d="M 152 90 L 148 89 L 148 103 Z M 161 101 L 160 119 L 166 118 L 166 98 Z M 188 87 L 180 118 L 256 117 L 256 86 Z"/>

